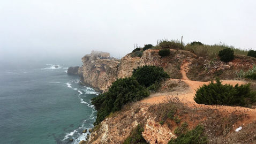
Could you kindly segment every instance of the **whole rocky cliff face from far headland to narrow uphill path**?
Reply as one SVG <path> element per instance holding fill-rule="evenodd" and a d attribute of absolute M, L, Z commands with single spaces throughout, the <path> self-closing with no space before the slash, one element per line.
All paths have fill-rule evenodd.
<path fill-rule="evenodd" d="M 117 78 L 131 77 L 133 69 L 144 65 L 161 66 L 171 78 L 180 79 L 180 64 L 184 59 L 195 57 L 189 51 L 171 50 L 171 57 L 161 58 L 158 51 L 148 49 L 141 57 L 127 54 L 121 60 L 110 57 L 106 52 L 93 51 L 82 58 L 83 65 L 78 71 L 82 73 L 81 79 L 85 84 L 106 92 Z"/>

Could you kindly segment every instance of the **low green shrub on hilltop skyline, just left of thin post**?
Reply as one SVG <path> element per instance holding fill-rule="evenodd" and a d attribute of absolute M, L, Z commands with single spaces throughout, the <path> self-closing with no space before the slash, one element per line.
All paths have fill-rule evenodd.
<path fill-rule="evenodd" d="M 180 43 L 179 41 L 168 41 L 168 40 L 163 40 L 160 41 L 159 46 L 162 49 L 184 49 L 184 46 L 182 43 Z"/>

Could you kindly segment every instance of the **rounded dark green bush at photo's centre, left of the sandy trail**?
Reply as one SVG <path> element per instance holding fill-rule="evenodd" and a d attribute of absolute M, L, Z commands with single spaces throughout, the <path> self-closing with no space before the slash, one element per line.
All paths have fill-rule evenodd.
<path fill-rule="evenodd" d="M 133 69 L 132 77 L 134 77 L 140 85 L 146 87 L 155 84 L 155 82 L 160 82 L 165 78 L 170 78 L 169 75 L 163 71 L 162 67 L 149 65 Z"/>

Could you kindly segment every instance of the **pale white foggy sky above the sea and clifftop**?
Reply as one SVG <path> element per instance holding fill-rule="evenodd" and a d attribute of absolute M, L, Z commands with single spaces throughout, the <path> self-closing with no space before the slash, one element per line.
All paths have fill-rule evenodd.
<path fill-rule="evenodd" d="M 157 39 L 256 48 L 255 1 L 0 0 L 0 60 L 122 57 Z"/>

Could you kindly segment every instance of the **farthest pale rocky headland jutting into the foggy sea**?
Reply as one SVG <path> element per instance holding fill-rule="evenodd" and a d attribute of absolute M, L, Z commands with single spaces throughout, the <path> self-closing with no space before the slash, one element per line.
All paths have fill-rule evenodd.
<path fill-rule="evenodd" d="M 117 78 L 120 62 L 106 52 L 93 51 L 82 57 L 82 63 L 78 70 L 82 74 L 81 80 L 96 90 L 105 91 Z"/>

